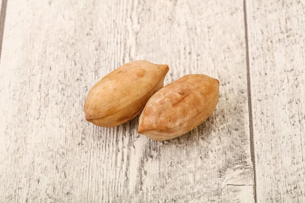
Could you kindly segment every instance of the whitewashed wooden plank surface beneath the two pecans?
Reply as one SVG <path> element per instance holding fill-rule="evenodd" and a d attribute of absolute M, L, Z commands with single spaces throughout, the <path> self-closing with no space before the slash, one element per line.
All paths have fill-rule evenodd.
<path fill-rule="evenodd" d="M 305 1 L 3 0 L 1 202 L 305 202 Z M 179 138 L 85 121 L 126 62 L 219 79 Z"/>

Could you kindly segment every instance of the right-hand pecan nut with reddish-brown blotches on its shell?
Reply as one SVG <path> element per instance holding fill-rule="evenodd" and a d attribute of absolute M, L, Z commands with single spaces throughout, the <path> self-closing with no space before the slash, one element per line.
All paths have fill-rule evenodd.
<path fill-rule="evenodd" d="M 138 133 L 169 140 L 194 129 L 215 110 L 219 81 L 206 75 L 187 75 L 154 94 L 139 118 Z"/>

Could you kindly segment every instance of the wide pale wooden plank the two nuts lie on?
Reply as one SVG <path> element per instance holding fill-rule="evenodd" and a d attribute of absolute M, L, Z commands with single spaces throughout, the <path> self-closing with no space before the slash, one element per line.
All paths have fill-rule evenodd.
<path fill-rule="evenodd" d="M 219 79 L 216 111 L 165 142 L 86 122 L 88 90 L 136 59 Z M 6 202 L 254 202 L 242 1 L 11 0 L 0 81 Z"/>

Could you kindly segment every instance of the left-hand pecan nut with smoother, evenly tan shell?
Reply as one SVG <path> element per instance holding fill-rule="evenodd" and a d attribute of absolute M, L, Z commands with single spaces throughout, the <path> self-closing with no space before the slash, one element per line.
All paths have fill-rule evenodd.
<path fill-rule="evenodd" d="M 133 119 L 163 87 L 168 71 L 168 65 L 145 60 L 118 67 L 89 91 L 84 105 L 86 120 L 98 126 L 114 127 Z"/>

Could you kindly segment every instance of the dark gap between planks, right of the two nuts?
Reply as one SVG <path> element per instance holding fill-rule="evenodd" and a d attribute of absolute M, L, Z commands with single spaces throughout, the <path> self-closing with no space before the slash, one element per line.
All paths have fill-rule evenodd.
<path fill-rule="evenodd" d="M 248 86 L 248 108 L 249 108 L 249 131 L 250 131 L 250 153 L 253 164 L 254 176 L 254 201 L 257 202 L 256 197 L 256 168 L 255 168 L 255 150 L 253 138 L 253 120 L 252 120 L 252 100 L 251 100 L 251 83 L 250 83 L 250 62 L 249 62 L 249 42 L 248 42 L 248 24 L 247 24 L 247 5 L 246 0 L 243 0 L 243 21 L 245 22 L 245 41 L 246 41 L 246 64 L 247 64 L 247 86 Z"/>

